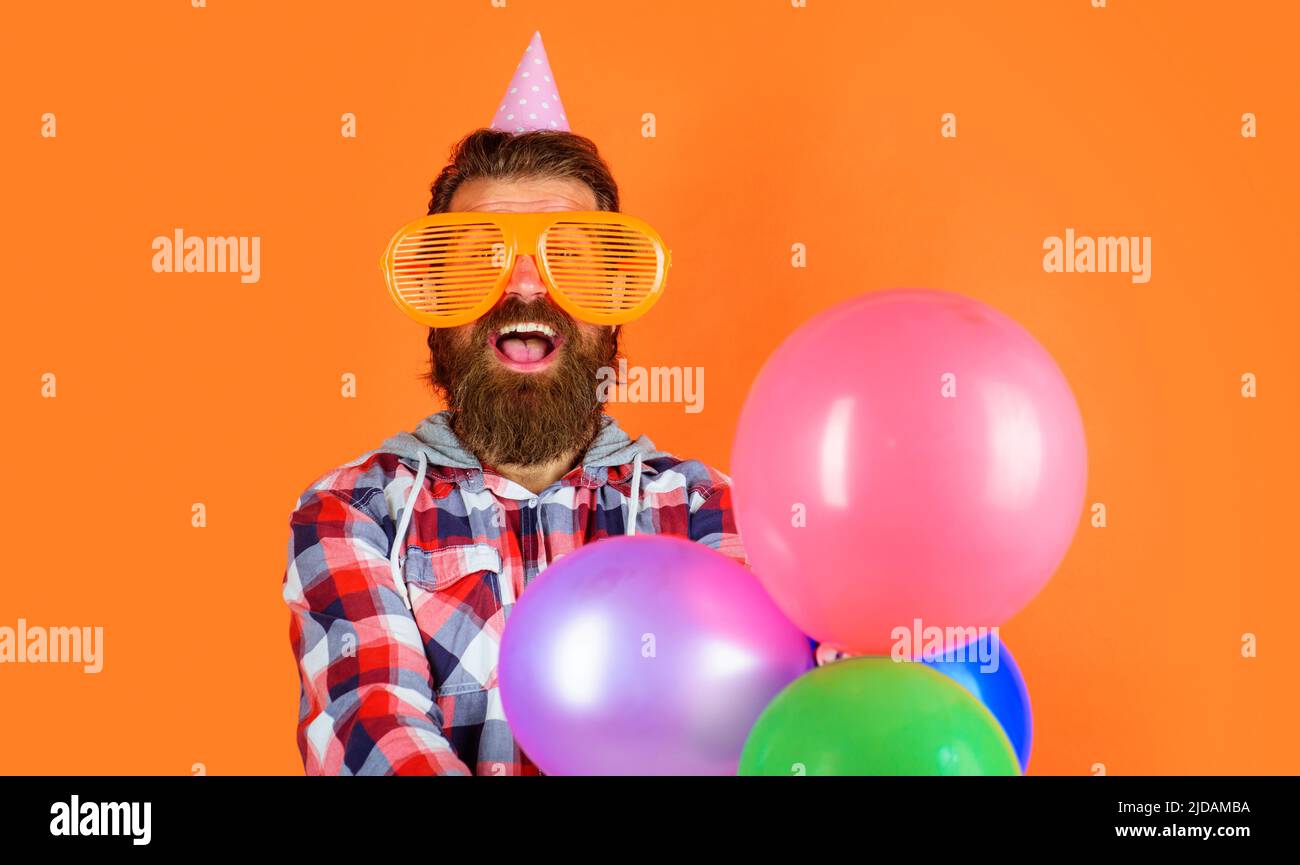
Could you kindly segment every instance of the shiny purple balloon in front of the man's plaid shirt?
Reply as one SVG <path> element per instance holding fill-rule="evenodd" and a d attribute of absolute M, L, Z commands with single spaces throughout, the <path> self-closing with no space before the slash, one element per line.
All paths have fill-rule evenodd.
<path fill-rule="evenodd" d="M 623 536 L 529 584 L 498 682 L 515 739 L 549 775 L 734 775 L 758 715 L 811 667 L 807 637 L 738 563 Z"/>

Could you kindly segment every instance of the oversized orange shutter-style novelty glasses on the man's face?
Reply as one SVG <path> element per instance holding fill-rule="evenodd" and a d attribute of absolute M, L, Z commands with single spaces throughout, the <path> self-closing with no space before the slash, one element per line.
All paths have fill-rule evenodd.
<path fill-rule="evenodd" d="M 389 241 L 380 267 L 398 307 L 454 328 L 491 310 L 515 258 L 532 255 L 555 303 L 575 319 L 624 324 L 663 294 L 672 251 L 642 220 L 610 211 L 421 216 Z"/>

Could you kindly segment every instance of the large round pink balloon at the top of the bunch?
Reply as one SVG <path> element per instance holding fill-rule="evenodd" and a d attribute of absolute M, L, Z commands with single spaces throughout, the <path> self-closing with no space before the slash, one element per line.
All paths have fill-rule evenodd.
<path fill-rule="evenodd" d="M 785 614 L 887 654 L 915 619 L 996 626 L 1043 588 L 1079 522 L 1087 451 L 1065 376 L 1020 325 L 904 289 L 781 343 L 745 402 L 732 479 L 750 563 Z"/>

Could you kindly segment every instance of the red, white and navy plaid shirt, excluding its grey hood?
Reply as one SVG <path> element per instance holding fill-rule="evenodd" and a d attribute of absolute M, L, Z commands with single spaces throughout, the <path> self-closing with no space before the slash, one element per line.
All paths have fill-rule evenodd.
<path fill-rule="evenodd" d="M 541 493 L 490 467 L 417 471 L 370 451 L 328 472 L 290 518 L 283 596 L 302 680 L 308 774 L 538 774 L 502 712 L 497 657 L 515 598 L 550 562 L 623 535 L 633 466 L 578 466 Z M 637 532 L 679 535 L 748 565 L 731 481 L 696 460 L 642 459 Z M 411 609 L 390 570 L 402 553 Z"/>

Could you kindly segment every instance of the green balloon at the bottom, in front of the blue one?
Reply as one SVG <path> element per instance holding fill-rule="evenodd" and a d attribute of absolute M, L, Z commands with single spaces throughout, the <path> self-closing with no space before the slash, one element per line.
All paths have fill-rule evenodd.
<path fill-rule="evenodd" d="M 741 775 L 1018 775 L 997 719 L 920 663 L 849 658 L 805 672 L 758 717 Z"/>

